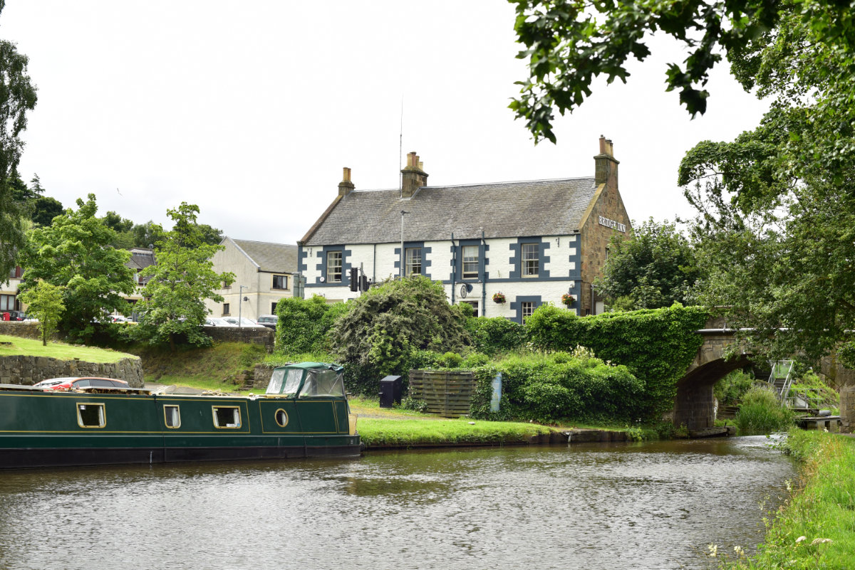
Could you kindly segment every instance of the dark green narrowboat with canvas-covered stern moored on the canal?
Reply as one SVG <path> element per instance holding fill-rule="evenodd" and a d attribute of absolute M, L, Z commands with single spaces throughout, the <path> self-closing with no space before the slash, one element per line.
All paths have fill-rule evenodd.
<path fill-rule="evenodd" d="M 358 456 L 342 372 L 289 364 L 250 396 L 0 385 L 0 468 Z"/>

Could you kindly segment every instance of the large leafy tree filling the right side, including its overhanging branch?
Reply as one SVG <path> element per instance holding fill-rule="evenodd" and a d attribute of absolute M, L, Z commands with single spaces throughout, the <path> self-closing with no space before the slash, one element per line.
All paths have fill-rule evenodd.
<path fill-rule="evenodd" d="M 855 12 L 837 0 L 595 3 L 516 0 L 530 78 L 511 107 L 535 140 L 555 140 L 552 110 L 572 111 L 598 74 L 625 79 L 648 32 L 690 55 L 672 64 L 669 90 L 703 113 L 711 67 L 727 55 L 734 78 L 771 100 L 758 128 L 705 141 L 681 163 L 698 208 L 695 233 L 709 271 L 705 300 L 754 352 L 817 357 L 842 343 L 855 366 Z"/>

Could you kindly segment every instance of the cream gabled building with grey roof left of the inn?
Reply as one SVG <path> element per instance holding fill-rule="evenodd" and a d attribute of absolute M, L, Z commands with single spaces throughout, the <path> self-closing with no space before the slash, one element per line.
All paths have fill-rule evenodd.
<path fill-rule="evenodd" d="M 231 271 L 234 282 L 218 291 L 221 303 L 205 300 L 214 317 L 273 315 L 276 303 L 293 294 L 293 274 L 297 272 L 297 246 L 268 241 L 234 240 L 220 242 L 224 250 L 211 260 L 217 273 Z"/>

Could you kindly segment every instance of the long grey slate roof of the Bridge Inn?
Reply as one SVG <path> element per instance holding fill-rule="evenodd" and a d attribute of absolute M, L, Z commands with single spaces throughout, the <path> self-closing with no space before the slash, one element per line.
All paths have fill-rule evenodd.
<path fill-rule="evenodd" d="M 563 236 L 579 229 L 597 187 L 594 177 L 425 186 L 409 200 L 398 190 L 353 190 L 318 220 L 304 245 Z"/>

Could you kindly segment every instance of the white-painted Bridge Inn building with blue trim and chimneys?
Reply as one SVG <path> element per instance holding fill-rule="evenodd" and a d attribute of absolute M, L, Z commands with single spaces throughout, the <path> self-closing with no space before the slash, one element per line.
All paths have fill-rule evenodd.
<path fill-rule="evenodd" d="M 593 158 L 593 177 L 428 186 L 410 153 L 392 190 L 357 190 L 345 168 L 339 194 L 298 241 L 305 294 L 354 298 L 355 270 L 371 282 L 428 276 L 452 304 L 517 323 L 544 303 L 563 306 L 565 294 L 569 311 L 598 313 L 593 279 L 610 238 L 631 228 L 611 141 L 600 137 Z"/>

